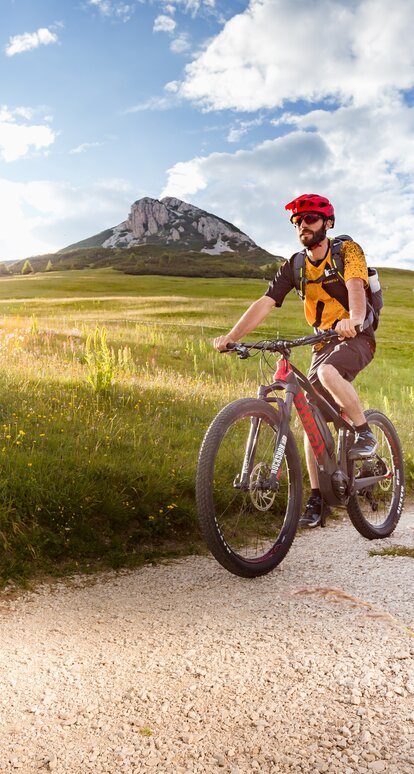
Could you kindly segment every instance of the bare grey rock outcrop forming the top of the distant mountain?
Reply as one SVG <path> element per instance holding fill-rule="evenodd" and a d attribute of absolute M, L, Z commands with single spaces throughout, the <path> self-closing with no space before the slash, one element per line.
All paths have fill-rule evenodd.
<path fill-rule="evenodd" d="M 132 205 L 127 220 L 70 245 L 65 251 L 83 246 L 134 247 L 144 244 L 210 255 L 260 249 L 240 229 L 216 215 L 171 196 L 161 200 L 146 196 Z"/>

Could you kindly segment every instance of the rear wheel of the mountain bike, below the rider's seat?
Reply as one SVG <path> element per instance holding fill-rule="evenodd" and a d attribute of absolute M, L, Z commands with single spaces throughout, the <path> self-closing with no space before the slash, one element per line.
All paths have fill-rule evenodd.
<path fill-rule="evenodd" d="M 404 506 L 404 461 L 400 440 L 392 422 L 381 411 L 365 412 L 378 447 L 372 459 L 355 462 L 355 480 L 384 476 L 373 486 L 359 489 L 347 510 L 354 527 L 368 540 L 391 535 Z"/>

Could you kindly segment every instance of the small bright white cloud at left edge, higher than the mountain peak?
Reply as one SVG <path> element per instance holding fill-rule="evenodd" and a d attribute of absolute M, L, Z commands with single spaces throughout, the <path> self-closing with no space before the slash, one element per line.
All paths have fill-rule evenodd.
<path fill-rule="evenodd" d="M 32 118 L 31 108 L 9 110 L 0 108 L 0 158 L 11 162 L 24 158 L 30 152 L 46 150 L 56 139 L 50 126 L 22 123 L 21 119 Z"/>

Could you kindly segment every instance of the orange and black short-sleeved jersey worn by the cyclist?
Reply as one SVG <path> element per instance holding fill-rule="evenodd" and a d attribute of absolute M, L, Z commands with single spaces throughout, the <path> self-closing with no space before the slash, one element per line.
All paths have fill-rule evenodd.
<path fill-rule="evenodd" d="M 344 265 L 344 281 L 362 279 L 367 288 L 368 269 L 362 248 L 356 242 L 347 240 L 342 243 L 340 254 Z M 276 306 L 282 306 L 285 296 L 295 287 L 293 258 L 281 266 L 265 293 L 275 301 Z M 315 282 L 331 265 L 330 249 L 325 258 L 317 263 L 312 263 L 306 256 L 305 274 L 308 282 L 305 289 L 305 317 L 309 325 L 321 330 L 332 328 L 338 320 L 349 317 L 348 291 L 344 281 L 333 272 L 322 282 Z"/>

